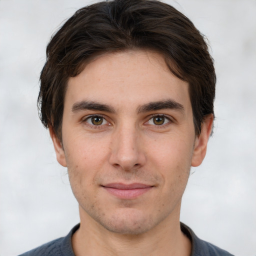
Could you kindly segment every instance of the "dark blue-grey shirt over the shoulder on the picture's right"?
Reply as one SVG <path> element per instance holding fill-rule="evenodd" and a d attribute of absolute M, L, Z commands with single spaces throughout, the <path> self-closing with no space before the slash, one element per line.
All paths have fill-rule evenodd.
<path fill-rule="evenodd" d="M 191 228 L 180 223 L 181 231 L 191 240 L 191 256 L 233 256 L 226 250 L 223 250 L 209 242 L 198 238 Z"/>

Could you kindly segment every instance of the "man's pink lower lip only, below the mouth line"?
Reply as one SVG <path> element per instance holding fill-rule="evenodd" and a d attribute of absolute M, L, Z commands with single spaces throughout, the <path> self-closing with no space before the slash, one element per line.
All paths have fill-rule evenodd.
<path fill-rule="evenodd" d="M 133 199 L 142 195 L 152 188 L 152 186 L 143 187 L 143 188 L 133 188 L 133 189 L 118 189 L 113 187 L 105 187 L 104 188 L 112 195 L 120 198 L 120 199 Z"/>

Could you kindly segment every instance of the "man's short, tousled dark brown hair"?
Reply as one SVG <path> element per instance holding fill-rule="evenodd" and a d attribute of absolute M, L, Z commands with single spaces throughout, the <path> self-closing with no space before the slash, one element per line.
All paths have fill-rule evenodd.
<path fill-rule="evenodd" d="M 174 7 L 157 0 L 102 1 L 77 10 L 52 36 L 40 75 L 38 108 L 45 127 L 61 141 L 69 77 L 104 52 L 148 49 L 164 56 L 169 70 L 189 83 L 195 133 L 213 112 L 216 76 L 204 36 Z"/>

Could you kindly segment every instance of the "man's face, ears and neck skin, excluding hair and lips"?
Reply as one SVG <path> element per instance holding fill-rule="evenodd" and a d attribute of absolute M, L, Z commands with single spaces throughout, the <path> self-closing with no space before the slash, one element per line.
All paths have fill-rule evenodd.
<path fill-rule="evenodd" d="M 195 136 L 188 84 L 158 53 L 100 55 L 69 78 L 62 141 L 52 128 L 50 135 L 79 203 L 75 255 L 189 255 L 181 197 L 190 166 L 205 156 L 212 120 Z M 113 182 L 149 188 L 120 198 L 105 187 Z"/>

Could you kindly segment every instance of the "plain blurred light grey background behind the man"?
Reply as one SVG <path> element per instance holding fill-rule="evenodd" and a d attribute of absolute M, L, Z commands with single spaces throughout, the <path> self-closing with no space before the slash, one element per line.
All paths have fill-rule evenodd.
<path fill-rule="evenodd" d="M 0 255 L 65 235 L 79 221 L 65 168 L 36 110 L 45 46 L 88 0 L 0 0 Z M 256 1 L 166 1 L 210 42 L 213 137 L 191 170 L 181 221 L 235 255 L 256 255 Z"/>

